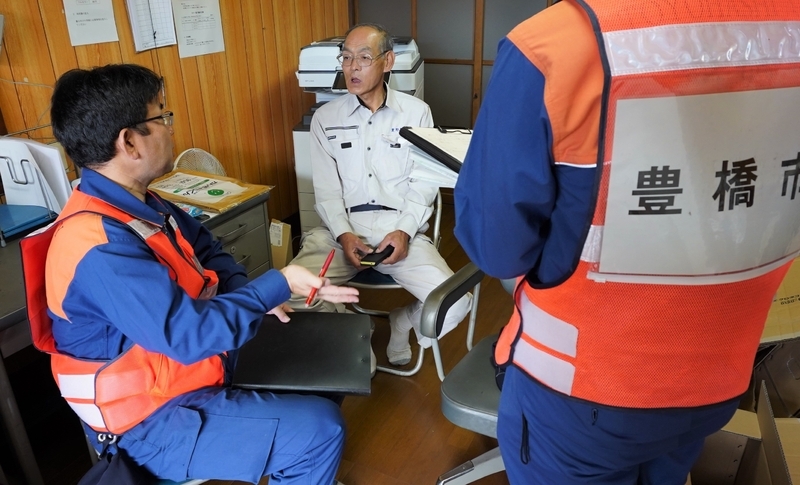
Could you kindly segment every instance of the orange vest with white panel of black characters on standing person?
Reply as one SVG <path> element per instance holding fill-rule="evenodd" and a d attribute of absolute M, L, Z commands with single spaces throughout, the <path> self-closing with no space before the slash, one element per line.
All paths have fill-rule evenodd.
<path fill-rule="evenodd" d="M 559 86 L 545 83 L 545 102 L 600 102 L 595 210 L 564 282 L 520 280 L 495 359 L 609 406 L 735 398 L 800 250 L 800 4 L 563 3 L 593 25 L 604 79 L 579 96 L 548 97 Z M 552 20 L 509 38 L 548 80 L 566 79 L 558 69 L 579 68 L 559 67 L 563 44 L 531 47 L 576 25 Z M 554 137 L 555 163 L 569 148 Z"/>

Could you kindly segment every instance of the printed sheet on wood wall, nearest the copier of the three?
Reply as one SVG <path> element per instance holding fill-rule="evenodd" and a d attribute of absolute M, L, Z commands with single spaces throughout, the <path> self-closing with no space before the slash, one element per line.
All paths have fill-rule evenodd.
<path fill-rule="evenodd" d="M 225 50 L 219 0 L 172 0 L 181 58 Z"/>

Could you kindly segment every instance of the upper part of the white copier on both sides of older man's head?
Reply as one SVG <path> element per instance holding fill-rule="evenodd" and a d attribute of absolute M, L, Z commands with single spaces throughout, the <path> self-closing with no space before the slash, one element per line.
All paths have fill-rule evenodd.
<path fill-rule="evenodd" d="M 389 87 L 425 99 L 425 61 L 419 55 L 417 43 L 411 37 L 392 37 L 394 67 L 389 74 Z M 344 37 L 330 37 L 300 49 L 300 64 L 296 72 L 300 87 L 314 93 L 317 101 L 330 101 L 347 92 L 342 66 L 336 60 Z"/>

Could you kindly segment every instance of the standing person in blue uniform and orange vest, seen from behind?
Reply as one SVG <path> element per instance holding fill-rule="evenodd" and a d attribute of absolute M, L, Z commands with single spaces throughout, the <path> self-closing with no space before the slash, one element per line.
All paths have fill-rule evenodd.
<path fill-rule="evenodd" d="M 512 483 L 683 484 L 733 415 L 800 252 L 799 34 L 797 2 L 565 0 L 500 42 L 455 233 L 517 278 Z"/>

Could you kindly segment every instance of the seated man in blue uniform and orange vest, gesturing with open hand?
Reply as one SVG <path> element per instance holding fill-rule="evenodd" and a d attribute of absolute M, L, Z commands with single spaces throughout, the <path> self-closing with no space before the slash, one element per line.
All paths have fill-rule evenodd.
<path fill-rule="evenodd" d="M 56 82 L 53 134 L 83 170 L 54 225 L 21 241 L 34 344 L 87 436 L 113 435 L 157 477 L 334 483 L 333 401 L 229 381 L 264 313 L 288 321 L 291 293 L 357 292 L 291 265 L 248 281 L 205 227 L 148 191 L 173 166 L 164 102 L 163 80 L 131 64 Z"/>

